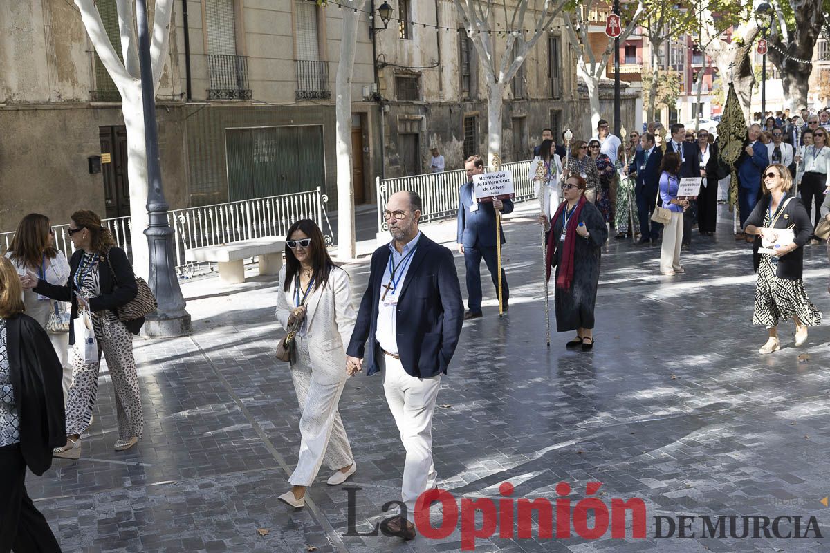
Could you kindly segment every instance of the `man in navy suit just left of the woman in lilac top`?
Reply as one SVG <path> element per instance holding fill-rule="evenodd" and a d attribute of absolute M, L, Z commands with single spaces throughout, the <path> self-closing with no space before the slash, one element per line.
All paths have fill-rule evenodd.
<path fill-rule="evenodd" d="M 640 240 L 637 245 L 656 242 L 660 238 L 662 225 L 652 221 L 652 211 L 657 202 L 657 187 L 660 184 L 660 162 L 663 153 L 654 145 L 652 133 L 642 133 L 642 149 L 634 154 L 628 172 L 637 175 L 634 196 L 637 198 L 637 216 L 640 218 Z M 651 228 L 649 228 L 651 226 Z"/>

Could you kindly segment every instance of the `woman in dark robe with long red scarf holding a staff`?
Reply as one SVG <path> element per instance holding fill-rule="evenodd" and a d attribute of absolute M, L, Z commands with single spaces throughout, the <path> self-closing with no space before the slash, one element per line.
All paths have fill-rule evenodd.
<path fill-rule="evenodd" d="M 565 347 L 593 348 L 593 310 L 597 302 L 599 259 L 608 239 L 603 215 L 585 197 L 585 179 L 571 175 L 562 187 L 564 201 L 548 220 L 539 216 L 547 232 L 547 275 L 556 267 L 554 308 L 556 330 L 575 330 Z"/>

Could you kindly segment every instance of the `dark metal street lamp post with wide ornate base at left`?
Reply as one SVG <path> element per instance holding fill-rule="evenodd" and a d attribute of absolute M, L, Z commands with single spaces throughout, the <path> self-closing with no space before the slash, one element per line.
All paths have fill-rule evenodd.
<path fill-rule="evenodd" d="M 144 334 L 151 337 L 174 337 L 190 333 L 190 314 L 173 269 L 173 229 L 168 223 L 168 203 L 164 199 L 159 163 L 159 128 L 155 114 L 153 65 L 150 61 L 150 37 L 147 24 L 147 2 L 136 0 L 136 22 L 139 32 L 139 64 L 141 95 L 144 104 L 144 148 L 147 148 L 147 211 L 149 228 L 144 230 L 149 245 L 149 285 L 159 307 L 147 316 Z"/>

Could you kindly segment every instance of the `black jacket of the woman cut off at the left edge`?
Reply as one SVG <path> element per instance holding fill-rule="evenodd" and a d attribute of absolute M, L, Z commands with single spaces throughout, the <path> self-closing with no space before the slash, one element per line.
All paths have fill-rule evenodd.
<path fill-rule="evenodd" d="M 20 450 L 32 473 L 51 467 L 52 449 L 66 444 L 63 367 L 49 335 L 28 315 L 6 319 L 6 351 L 20 417 Z"/>

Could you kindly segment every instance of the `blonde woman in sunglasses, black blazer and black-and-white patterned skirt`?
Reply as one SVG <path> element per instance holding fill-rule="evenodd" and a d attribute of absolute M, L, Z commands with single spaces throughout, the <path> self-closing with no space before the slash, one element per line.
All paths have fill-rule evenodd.
<path fill-rule="evenodd" d="M 756 235 L 754 266 L 758 284 L 752 323 L 769 331 L 767 342 L 758 350 L 762 354 L 780 349 L 781 319 L 793 319 L 797 347 L 807 342 L 807 327 L 822 320 L 822 313 L 810 302 L 802 281 L 803 245 L 813 234 L 813 225 L 802 201 L 791 193 L 792 187 L 793 179 L 787 167 L 780 164 L 767 167 L 761 186 L 764 196 L 745 223 L 745 233 Z M 780 233 L 786 237 L 779 238 L 776 230 L 781 229 L 792 230 Z M 774 253 L 759 253 L 762 236 Z"/>

